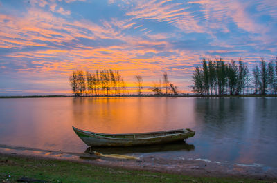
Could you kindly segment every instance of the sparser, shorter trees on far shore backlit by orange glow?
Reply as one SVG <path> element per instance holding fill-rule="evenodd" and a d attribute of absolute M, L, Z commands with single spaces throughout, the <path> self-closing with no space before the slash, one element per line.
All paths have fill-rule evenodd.
<path fill-rule="evenodd" d="M 143 77 L 135 75 L 137 95 L 142 95 Z M 73 70 L 69 76 L 71 89 L 75 97 L 82 96 L 118 96 L 125 95 L 127 87 L 126 82 L 118 70 L 96 70 L 96 73 L 84 72 L 82 70 Z M 163 73 L 163 83 L 154 82 L 153 86 L 146 88 L 151 90 L 154 95 L 178 95 L 177 86 L 170 83 L 168 74 Z"/>

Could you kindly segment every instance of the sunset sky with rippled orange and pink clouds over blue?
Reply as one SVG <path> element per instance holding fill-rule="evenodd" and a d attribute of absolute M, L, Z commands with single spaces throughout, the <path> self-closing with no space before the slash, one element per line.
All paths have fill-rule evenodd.
<path fill-rule="evenodd" d="M 203 57 L 277 56 L 277 1 L 0 0 L 0 95 L 70 95 L 73 70 L 164 72 L 189 92 Z"/>

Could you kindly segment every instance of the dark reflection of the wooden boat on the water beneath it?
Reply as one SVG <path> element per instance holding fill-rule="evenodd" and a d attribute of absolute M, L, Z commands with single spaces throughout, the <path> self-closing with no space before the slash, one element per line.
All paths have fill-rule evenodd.
<path fill-rule="evenodd" d="M 131 154 L 131 153 L 153 153 L 165 151 L 193 151 L 195 146 L 193 144 L 186 144 L 186 142 L 172 142 L 170 144 L 154 144 L 148 146 L 132 146 L 132 147 L 89 147 L 84 153 L 91 153 L 93 151 L 103 154 Z"/>

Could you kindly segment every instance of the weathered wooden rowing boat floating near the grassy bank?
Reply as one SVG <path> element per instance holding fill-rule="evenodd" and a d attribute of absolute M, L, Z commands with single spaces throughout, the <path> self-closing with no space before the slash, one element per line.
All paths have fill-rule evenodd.
<path fill-rule="evenodd" d="M 147 144 L 163 144 L 175 141 L 184 141 L 193 137 L 195 132 L 190 129 L 173 131 L 157 131 L 149 133 L 107 134 L 83 131 L 73 127 L 73 131 L 88 146 L 139 146 Z"/>

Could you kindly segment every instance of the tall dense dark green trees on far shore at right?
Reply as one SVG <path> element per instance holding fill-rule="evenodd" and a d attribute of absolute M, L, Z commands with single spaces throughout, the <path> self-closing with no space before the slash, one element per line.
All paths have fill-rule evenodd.
<path fill-rule="evenodd" d="M 244 95 L 255 93 L 265 95 L 277 93 L 276 61 L 265 62 L 261 58 L 251 72 L 247 64 L 239 59 L 226 63 L 223 59 L 202 60 L 202 67 L 193 72 L 193 85 L 198 95 Z"/>

